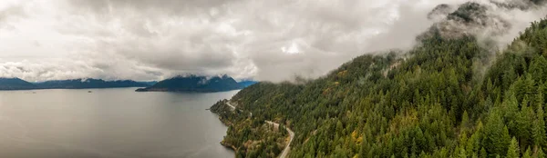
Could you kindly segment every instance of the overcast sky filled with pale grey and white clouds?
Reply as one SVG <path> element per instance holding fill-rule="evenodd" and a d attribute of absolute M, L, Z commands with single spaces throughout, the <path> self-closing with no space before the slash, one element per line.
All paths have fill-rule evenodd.
<path fill-rule="evenodd" d="M 313 78 L 360 54 L 412 46 L 433 7 L 461 2 L 2 0 L 0 76 Z M 536 17 L 512 18 L 525 27 Z"/>

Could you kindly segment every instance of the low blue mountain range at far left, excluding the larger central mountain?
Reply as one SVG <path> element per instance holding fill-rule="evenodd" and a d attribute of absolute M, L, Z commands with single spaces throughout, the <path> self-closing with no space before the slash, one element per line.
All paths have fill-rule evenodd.
<path fill-rule="evenodd" d="M 131 80 L 104 81 L 101 79 L 72 79 L 29 83 L 19 78 L 0 78 L 0 90 L 32 89 L 86 89 L 86 88 L 120 88 L 147 87 L 149 82 L 139 83 Z"/>

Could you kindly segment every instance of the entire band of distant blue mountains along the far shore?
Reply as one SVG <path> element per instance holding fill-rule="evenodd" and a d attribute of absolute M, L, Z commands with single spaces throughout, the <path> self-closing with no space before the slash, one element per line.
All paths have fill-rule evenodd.
<path fill-rule="evenodd" d="M 139 88 L 137 92 L 222 92 L 243 89 L 257 82 L 244 80 L 236 82 L 228 75 L 222 76 L 177 76 L 160 82 L 136 82 L 132 80 L 105 81 L 101 79 L 54 80 L 30 83 L 19 78 L 1 78 L 0 90 L 33 90 L 33 89 L 88 89 L 88 88 Z"/>

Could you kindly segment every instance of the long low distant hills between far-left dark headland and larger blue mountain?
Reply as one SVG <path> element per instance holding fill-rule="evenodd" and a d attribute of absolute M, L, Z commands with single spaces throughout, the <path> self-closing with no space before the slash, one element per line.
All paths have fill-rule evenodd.
<path fill-rule="evenodd" d="M 36 83 L 40 89 L 86 89 L 86 88 L 121 88 L 121 87 L 146 87 L 149 84 L 142 84 L 131 80 L 104 81 L 101 79 L 73 79 L 56 80 Z"/>

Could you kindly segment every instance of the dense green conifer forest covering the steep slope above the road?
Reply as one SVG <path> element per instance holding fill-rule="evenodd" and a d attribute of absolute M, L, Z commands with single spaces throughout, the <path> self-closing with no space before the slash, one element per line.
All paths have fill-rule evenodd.
<path fill-rule="evenodd" d="M 460 11 L 449 16 L 473 19 Z M 547 20 L 502 52 L 442 31 L 405 54 L 365 54 L 315 80 L 243 89 L 212 107 L 229 125 L 223 143 L 237 157 L 275 157 L 287 135 L 261 129 L 272 120 L 295 133 L 290 157 L 546 157 Z M 266 141 L 258 151 L 249 140 Z"/>

